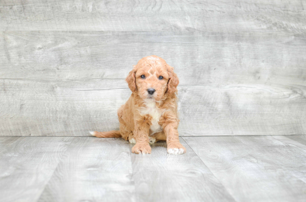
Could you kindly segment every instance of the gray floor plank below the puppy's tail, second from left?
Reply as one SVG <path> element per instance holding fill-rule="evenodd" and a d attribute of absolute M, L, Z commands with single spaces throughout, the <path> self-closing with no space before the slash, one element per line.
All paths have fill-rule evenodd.
<path fill-rule="evenodd" d="M 134 201 L 129 144 L 74 137 L 38 201 Z"/>

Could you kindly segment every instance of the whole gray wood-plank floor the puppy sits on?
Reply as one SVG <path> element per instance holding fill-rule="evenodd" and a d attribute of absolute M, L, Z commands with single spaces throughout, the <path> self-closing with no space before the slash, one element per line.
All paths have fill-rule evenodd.
<path fill-rule="evenodd" d="M 0 137 L 8 201 L 305 201 L 306 135 L 180 137 L 131 153 L 123 139 Z"/>

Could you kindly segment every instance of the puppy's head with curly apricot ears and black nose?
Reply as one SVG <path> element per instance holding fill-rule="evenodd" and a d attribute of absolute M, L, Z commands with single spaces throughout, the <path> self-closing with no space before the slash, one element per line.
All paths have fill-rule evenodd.
<path fill-rule="evenodd" d="M 142 99 L 160 101 L 176 92 L 179 79 L 164 59 L 156 55 L 140 59 L 128 74 L 126 82 Z"/>

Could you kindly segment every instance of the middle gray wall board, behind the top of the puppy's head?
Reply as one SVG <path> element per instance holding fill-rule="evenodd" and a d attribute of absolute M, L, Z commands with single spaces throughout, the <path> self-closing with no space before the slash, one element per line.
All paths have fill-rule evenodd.
<path fill-rule="evenodd" d="M 142 57 L 175 68 L 180 85 L 305 85 L 305 35 L 290 32 L 2 31 L 0 78 L 125 79 Z"/>

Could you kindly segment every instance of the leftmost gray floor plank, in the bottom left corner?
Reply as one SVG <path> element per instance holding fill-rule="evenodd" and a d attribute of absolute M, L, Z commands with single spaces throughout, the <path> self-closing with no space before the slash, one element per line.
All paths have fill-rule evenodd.
<path fill-rule="evenodd" d="M 2 202 L 34 202 L 73 137 L 0 137 Z"/>

